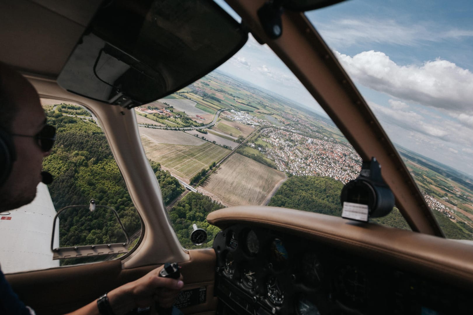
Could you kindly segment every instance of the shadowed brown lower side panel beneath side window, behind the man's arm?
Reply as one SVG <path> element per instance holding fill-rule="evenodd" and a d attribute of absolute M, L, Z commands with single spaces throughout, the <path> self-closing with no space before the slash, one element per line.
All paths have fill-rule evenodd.
<path fill-rule="evenodd" d="M 191 259 L 181 265 L 184 289 L 207 287 L 206 303 L 181 309 L 184 314 L 214 314 L 215 252 L 189 251 Z M 8 274 L 7 280 L 26 305 L 37 315 L 64 314 L 84 306 L 122 284 L 134 281 L 159 265 L 122 270 L 120 260 L 35 272 Z"/>

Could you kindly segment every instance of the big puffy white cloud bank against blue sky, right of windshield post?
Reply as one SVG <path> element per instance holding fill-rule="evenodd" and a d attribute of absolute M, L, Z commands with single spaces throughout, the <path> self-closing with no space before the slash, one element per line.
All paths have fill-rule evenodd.
<path fill-rule="evenodd" d="M 473 113 L 473 74 L 452 62 L 437 59 L 401 66 L 379 51 L 335 55 L 354 81 L 368 88 L 405 101 Z"/>

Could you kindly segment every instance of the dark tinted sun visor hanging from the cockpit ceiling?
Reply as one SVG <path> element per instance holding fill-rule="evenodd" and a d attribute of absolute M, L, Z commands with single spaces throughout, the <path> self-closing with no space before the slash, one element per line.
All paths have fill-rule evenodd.
<path fill-rule="evenodd" d="M 247 38 L 212 0 L 116 0 L 99 9 L 57 82 L 72 93 L 132 108 L 203 77 Z"/>

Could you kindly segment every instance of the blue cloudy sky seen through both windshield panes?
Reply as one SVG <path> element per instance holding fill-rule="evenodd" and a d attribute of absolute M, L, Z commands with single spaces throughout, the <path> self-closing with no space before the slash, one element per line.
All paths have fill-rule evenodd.
<path fill-rule="evenodd" d="M 349 0 L 306 15 L 395 145 L 473 176 L 470 1 Z M 322 111 L 251 35 L 219 69 Z"/>

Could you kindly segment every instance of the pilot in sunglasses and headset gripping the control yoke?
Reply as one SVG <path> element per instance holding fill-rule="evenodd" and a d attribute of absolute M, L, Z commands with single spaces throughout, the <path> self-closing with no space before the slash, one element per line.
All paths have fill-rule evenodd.
<path fill-rule="evenodd" d="M 41 181 L 43 158 L 53 142 L 42 141 L 46 123 L 39 96 L 22 75 L 0 63 L 0 212 L 29 204 L 36 196 Z M 6 166 L 6 151 L 13 153 Z M 8 155 L 8 154 L 7 154 Z M 3 177 L 3 179 L 2 179 Z M 179 280 L 158 277 L 161 267 L 142 278 L 129 282 L 70 314 L 125 314 L 137 307 L 158 302 L 170 307 L 183 288 Z M 0 269 L 0 314 L 35 314 L 13 292 Z"/>

